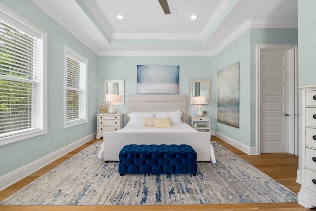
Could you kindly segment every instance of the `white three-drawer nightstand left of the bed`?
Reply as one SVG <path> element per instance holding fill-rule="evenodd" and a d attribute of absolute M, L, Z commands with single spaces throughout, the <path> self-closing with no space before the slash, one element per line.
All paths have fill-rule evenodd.
<path fill-rule="evenodd" d="M 96 139 L 103 137 L 103 132 L 115 132 L 123 128 L 123 114 L 97 114 L 97 119 Z"/>

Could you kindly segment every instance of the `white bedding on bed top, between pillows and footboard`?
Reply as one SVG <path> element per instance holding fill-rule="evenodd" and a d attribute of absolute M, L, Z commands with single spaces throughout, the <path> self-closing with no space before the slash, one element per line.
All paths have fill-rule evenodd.
<path fill-rule="evenodd" d="M 171 125 L 171 127 L 147 127 L 142 125 L 128 125 L 117 132 L 198 132 L 187 123 Z"/>

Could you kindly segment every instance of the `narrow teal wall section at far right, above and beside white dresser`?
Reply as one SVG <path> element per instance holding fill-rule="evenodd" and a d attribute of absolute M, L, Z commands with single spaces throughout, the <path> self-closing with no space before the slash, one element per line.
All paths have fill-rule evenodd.
<path fill-rule="evenodd" d="M 316 84 L 316 1 L 298 0 L 298 86 Z M 302 141 L 302 91 L 299 90 L 299 146 Z M 301 169 L 301 148 L 299 149 Z"/>

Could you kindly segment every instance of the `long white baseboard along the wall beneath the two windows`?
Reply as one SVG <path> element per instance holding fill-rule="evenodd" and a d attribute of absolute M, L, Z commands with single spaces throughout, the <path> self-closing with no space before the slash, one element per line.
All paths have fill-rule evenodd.
<path fill-rule="evenodd" d="M 4 188 L 30 175 L 31 173 L 43 168 L 47 164 L 73 151 L 74 149 L 78 148 L 82 144 L 85 144 L 86 142 L 94 139 L 95 135 L 96 133 L 87 135 L 67 146 L 64 146 L 63 148 L 60 148 L 48 155 L 45 155 L 44 157 L 41 157 L 40 159 L 37 159 L 27 165 L 24 165 L 23 167 L 20 167 L 7 174 L 4 174 L 3 176 L 0 177 L 0 190 L 3 190 Z"/>

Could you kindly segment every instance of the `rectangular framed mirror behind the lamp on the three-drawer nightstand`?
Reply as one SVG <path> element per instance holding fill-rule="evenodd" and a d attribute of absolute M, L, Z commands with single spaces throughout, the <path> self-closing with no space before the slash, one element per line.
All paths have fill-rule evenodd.
<path fill-rule="evenodd" d="M 103 80 L 103 103 L 106 105 L 111 105 L 110 102 L 106 102 L 105 98 L 107 94 L 119 94 L 120 101 L 113 102 L 113 105 L 124 105 L 124 88 L 125 88 L 125 80 L 118 79 L 104 79 Z"/>

